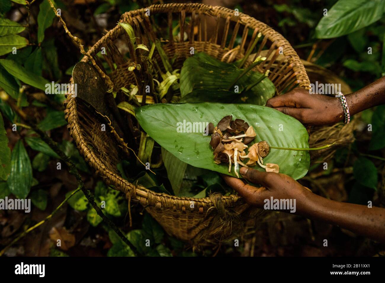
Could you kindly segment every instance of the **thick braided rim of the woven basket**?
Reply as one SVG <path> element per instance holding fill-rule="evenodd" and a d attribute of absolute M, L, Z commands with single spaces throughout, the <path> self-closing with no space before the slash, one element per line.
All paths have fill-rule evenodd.
<path fill-rule="evenodd" d="M 146 9 L 150 9 L 150 11 L 154 13 L 164 13 L 164 12 L 181 12 L 184 10 L 185 12 L 199 12 L 204 13 L 211 16 L 219 16 L 226 18 L 229 17 L 230 14 L 234 13 L 234 10 L 221 7 L 221 6 L 210 6 L 201 3 L 169 3 L 169 4 L 157 4 L 151 5 L 146 8 L 141 8 L 133 11 L 129 11 L 124 13 L 121 16 L 121 20 L 119 22 L 129 22 L 132 23 L 132 19 L 134 17 L 142 16 L 145 17 Z M 226 16 L 226 17 L 225 17 Z M 278 46 L 284 46 L 286 49 L 285 56 L 288 56 L 288 62 L 293 66 L 293 71 L 296 74 L 297 80 L 300 87 L 308 89 L 310 85 L 310 81 L 308 75 L 306 74 L 305 67 L 303 63 L 300 61 L 297 53 L 291 47 L 290 43 L 278 32 L 273 30 L 273 28 L 269 27 L 263 22 L 256 20 L 253 17 L 250 17 L 244 13 L 239 12 L 239 16 L 232 16 L 236 18 L 243 25 L 259 25 L 261 28 L 260 32 L 268 37 L 271 42 L 275 42 Z M 124 29 L 120 25 L 116 25 L 109 32 L 107 32 L 102 38 L 100 38 L 90 49 L 89 53 L 93 56 L 96 51 L 100 49 L 100 45 L 102 45 L 107 38 L 117 38 L 124 32 Z M 209 42 L 209 41 L 207 41 Z M 82 58 L 83 62 L 88 62 L 89 58 L 84 56 Z M 73 83 L 73 79 L 71 77 L 70 83 Z M 172 196 L 166 193 L 156 193 L 151 191 L 141 185 L 134 185 L 129 183 L 129 181 L 125 180 L 121 176 L 116 173 L 110 171 L 100 159 L 94 154 L 93 150 L 88 148 L 84 137 L 82 135 L 81 126 L 79 124 L 79 117 L 77 114 L 77 104 L 76 98 L 66 95 L 66 100 L 64 101 L 65 109 L 65 119 L 67 120 L 67 128 L 69 129 L 70 135 L 74 138 L 77 147 L 79 148 L 80 153 L 84 156 L 85 160 L 88 161 L 89 165 L 95 169 L 97 175 L 101 176 L 102 179 L 107 184 L 114 185 L 118 190 L 122 191 L 126 194 L 127 198 L 133 198 L 138 200 L 144 206 L 152 206 L 157 210 L 162 209 L 173 209 L 174 211 L 181 210 L 185 211 L 196 211 L 196 208 L 190 208 L 191 201 L 194 201 L 194 207 L 199 210 L 199 213 L 202 214 L 204 211 L 207 211 L 210 207 L 214 206 L 213 202 L 209 197 L 206 198 L 191 198 L 191 197 L 180 197 L 180 196 Z M 229 196 L 221 196 L 221 200 L 223 201 L 224 207 L 229 208 L 236 205 L 240 205 L 244 203 L 244 200 L 239 195 L 229 195 Z"/>

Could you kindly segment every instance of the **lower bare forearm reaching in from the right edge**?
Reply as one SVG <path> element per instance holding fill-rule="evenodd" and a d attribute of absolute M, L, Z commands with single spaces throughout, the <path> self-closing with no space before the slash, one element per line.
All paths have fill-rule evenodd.
<path fill-rule="evenodd" d="M 298 214 L 338 225 L 359 235 L 385 242 L 385 209 L 328 200 L 308 193 Z"/>

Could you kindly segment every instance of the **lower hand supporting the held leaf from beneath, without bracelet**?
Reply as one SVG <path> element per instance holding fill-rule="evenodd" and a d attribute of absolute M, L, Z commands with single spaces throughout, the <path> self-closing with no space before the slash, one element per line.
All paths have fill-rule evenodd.
<path fill-rule="evenodd" d="M 308 196 L 311 194 L 308 188 L 305 188 L 288 175 L 274 172 L 261 172 L 252 168 L 242 167 L 239 173 L 246 180 L 260 184 L 263 187 L 245 184 L 241 179 L 228 175 L 223 175 L 226 183 L 243 196 L 246 203 L 263 208 L 264 200 L 274 199 L 296 199 L 297 211 L 309 203 Z M 300 206 L 300 207 L 299 207 Z"/>

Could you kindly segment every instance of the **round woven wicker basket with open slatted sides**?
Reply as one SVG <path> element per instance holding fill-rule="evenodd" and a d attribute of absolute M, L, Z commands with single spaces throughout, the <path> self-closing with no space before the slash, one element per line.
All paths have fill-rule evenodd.
<path fill-rule="evenodd" d="M 203 51 L 226 62 L 238 60 L 261 32 L 263 40 L 260 41 L 255 56 L 263 52 L 268 59 L 258 65 L 258 71 L 270 70 L 269 79 L 274 83 L 277 94 L 296 86 L 309 88 L 310 82 L 305 68 L 288 41 L 280 33 L 248 15 L 243 13 L 235 15 L 234 10 L 203 4 L 152 5 L 148 7 L 149 10 L 146 9 L 127 12 L 122 15 L 121 21 L 129 23 L 134 28 L 136 36 L 139 37 L 138 43 L 151 46 L 151 42 L 159 36 L 152 28 L 152 16 L 160 14 L 166 26 L 164 34 L 168 34 L 168 38 L 161 38 L 164 50 L 170 58 L 176 54 L 173 68 L 181 68 L 186 57 L 191 56 L 190 47 L 194 47 L 195 52 Z M 150 17 L 146 16 L 146 11 L 150 12 Z M 179 20 L 179 34 L 182 36 L 178 40 L 172 36 L 173 19 Z M 211 36 L 207 32 L 208 20 L 216 22 L 215 31 Z M 188 35 L 187 40 L 183 38 L 185 32 Z M 240 41 L 239 37 L 236 37 L 238 34 L 241 36 Z M 119 25 L 89 50 L 94 58 L 101 47 L 106 47 L 110 51 L 107 52 L 105 59 L 113 70 L 107 75 L 114 83 L 114 90 L 134 82 L 132 72 L 127 70 L 129 61 L 121 55 L 115 45 L 118 41 L 119 48 L 122 48 L 123 43 L 127 44 L 126 32 Z M 282 52 L 284 56 L 280 56 L 280 60 L 277 60 Z M 156 53 L 154 57 L 159 59 Z M 254 55 L 249 57 L 250 60 L 245 66 L 251 63 L 253 57 Z M 82 61 L 89 62 L 89 58 L 84 57 Z M 97 62 L 102 68 L 99 60 Z M 115 63 L 116 67 L 111 63 Z M 239 236 L 240 223 L 254 221 L 263 213 L 263 210 L 249 207 L 238 195 L 216 194 L 201 199 L 181 198 L 155 193 L 143 186 L 129 183 L 121 177 L 116 168 L 122 156 L 119 143 L 109 131 L 101 132 L 100 127 L 95 127 L 105 121 L 102 122 L 97 114 L 90 113 L 89 108 L 79 98 L 67 96 L 65 106 L 67 127 L 85 160 L 105 183 L 113 185 L 131 200 L 139 201 L 145 206 L 170 235 L 190 241 L 192 244 L 213 243 L 229 239 L 231 236 Z"/>

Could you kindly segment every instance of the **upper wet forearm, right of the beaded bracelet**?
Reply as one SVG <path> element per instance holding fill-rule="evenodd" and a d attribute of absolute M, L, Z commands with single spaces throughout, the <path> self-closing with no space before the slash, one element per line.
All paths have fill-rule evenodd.
<path fill-rule="evenodd" d="M 357 92 L 345 95 L 345 98 L 350 115 L 385 104 L 385 77 L 379 78 Z"/>

